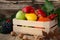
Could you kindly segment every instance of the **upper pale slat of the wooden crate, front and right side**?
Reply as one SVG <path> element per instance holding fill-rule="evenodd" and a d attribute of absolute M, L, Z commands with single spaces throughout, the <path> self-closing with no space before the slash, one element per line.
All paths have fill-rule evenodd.
<path fill-rule="evenodd" d="M 54 19 L 52 21 L 41 22 L 41 21 L 27 21 L 27 20 L 17 20 L 13 19 L 13 24 L 16 25 L 25 25 L 25 26 L 37 26 L 44 28 L 51 28 L 52 26 L 57 24 L 57 21 Z"/>

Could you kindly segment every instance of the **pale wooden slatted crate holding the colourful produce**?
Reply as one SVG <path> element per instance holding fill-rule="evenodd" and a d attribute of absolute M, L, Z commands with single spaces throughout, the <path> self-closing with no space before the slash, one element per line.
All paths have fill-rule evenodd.
<path fill-rule="evenodd" d="M 23 26 L 37 26 L 40 28 L 32 28 L 32 27 L 23 27 Z M 13 19 L 13 31 L 16 33 L 23 33 L 23 34 L 31 34 L 31 35 L 39 35 L 43 36 L 42 31 L 49 33 L 50 31 L 54 31 L 57 28 L 57 21 L 54 19 L 52 21 L 47 22 L 39 22 L 39 21 L 27 21 L 27 20 L 17 20 Z"/>

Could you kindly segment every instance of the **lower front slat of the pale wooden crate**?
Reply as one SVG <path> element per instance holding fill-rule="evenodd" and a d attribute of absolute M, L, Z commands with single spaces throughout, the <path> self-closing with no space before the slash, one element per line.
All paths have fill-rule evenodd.
<path fill-rule="evenodd" d="M 42 29 L 36 29 L 36 28 L 13 26 L 13 31 L 16 32 L 17 34 L 23 33 L 23 34 L 43 36 Z"/>

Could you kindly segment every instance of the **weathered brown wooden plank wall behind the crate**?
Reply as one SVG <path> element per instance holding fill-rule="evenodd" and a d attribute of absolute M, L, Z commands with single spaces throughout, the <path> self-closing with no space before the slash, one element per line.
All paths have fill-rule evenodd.
<path fill-rule="evenodd" d="M 60 7 L 60 0 L 49 0 L 52 1 L 54 6 Z M 20 10 L 24 6 L 32 5 L 32 0 L 0 0 L 0 14 L 12 15 L 16 11 Z M 33 4 L 43 4 L 44 0 L 35 0 Z M 11 11 L 13 10 L 13 11 Z M 9 16 L 10 17 L 10 16 Z"/>

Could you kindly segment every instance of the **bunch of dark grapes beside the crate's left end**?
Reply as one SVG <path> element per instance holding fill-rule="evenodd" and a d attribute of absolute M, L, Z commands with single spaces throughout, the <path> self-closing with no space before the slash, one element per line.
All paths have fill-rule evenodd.
<path fill-rule="evenodd" d="M 12 31 L 12 22 L 3 21 L 1 32 L 4 34 L 10 33 Z"/>

